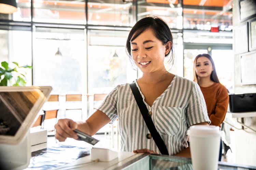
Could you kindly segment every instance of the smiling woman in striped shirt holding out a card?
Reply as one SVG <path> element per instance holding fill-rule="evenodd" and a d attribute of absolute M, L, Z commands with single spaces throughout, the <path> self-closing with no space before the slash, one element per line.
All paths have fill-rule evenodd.
<path fill-rule="evenodd" d="M 164 66 L 165 58 L 173 51 L 172 42 L 171 31 L 162 19 L 146 17 L 131 29 L 126 49 L 130 60 L 143 72 L 135 83 L 168 153 L 190 157 L 185 137 L 189 126 L 208 124 L 210 120 L 199 86 L 169 73 Z M 77 139 L 73 129 L 94 135 L 117 118 L 121 151 L 160 153 L 128 83 L 115 87 L 84 123 L 59 120 L 55 136 L 59 141 Z"/>

